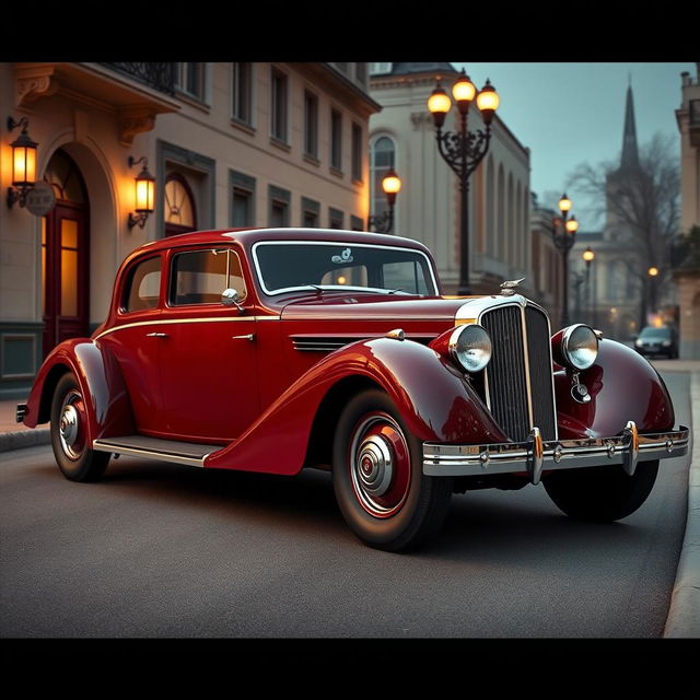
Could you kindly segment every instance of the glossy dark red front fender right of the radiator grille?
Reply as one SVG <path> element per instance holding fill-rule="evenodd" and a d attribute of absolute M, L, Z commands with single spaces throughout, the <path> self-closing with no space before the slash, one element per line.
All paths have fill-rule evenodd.
<path fill-rule="evenodd" d="M 617 435 L 633 420 L 640 432 L 674 428 L 674 407 L 656 370 L 638 352 L 603 339 L 595 364 L 580 373 L 591 394 L 588 404 L 571 396 L 571 377 L 555 373 L 559 435 L 563 439 Z"/>

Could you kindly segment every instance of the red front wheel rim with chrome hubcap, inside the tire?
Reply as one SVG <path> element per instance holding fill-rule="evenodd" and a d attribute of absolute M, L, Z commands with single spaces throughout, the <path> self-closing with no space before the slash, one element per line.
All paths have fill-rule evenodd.
<path fill-rule="evenodd" d="M 358 502 L 370 515 L 390 517 L 401 510 L 411 483 L 411 457 L 394 418 L 377 411 L 358 421 L 348 466 Z"/>

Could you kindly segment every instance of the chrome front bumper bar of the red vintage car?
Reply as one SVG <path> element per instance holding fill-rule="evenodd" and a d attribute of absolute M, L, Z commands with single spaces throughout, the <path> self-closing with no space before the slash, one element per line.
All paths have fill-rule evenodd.
<path fill-rule="evenodd" d="M 638 462 L 681 457 L 688 454 L 688 428 L 641 434 L 629 421 L 621 435 L 545 442 L 533 428 L 526 442 L 490 445 L 446 445 L 423 443 L 423 474 L 439 476 L 483 476 L 526 471 L 533 483 L 550 469 L 578 469 L 622 465 L 632 476 Z"/>

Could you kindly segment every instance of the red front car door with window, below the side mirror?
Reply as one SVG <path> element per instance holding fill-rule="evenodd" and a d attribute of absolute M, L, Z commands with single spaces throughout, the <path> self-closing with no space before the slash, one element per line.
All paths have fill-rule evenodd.
<path fill-rule="evenodd" d="M 168 256 L 167 337 L 161 340 L 163 423 L 177 440 L 237 438 L 259 412 L 256 322 L 241 258 L 231 247 Z M 235 289 L 240 307 L 221 294 Z"/>

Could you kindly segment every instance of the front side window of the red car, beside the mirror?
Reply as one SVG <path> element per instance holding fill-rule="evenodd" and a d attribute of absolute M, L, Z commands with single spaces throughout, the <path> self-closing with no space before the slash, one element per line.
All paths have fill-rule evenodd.
<path fill-rule="evenodd" d="M 243 301 L 245 282 L 238 256 L 230 248 L 189 250 L 173 256 L 170 303 L 220 304 L 225 289 L 235 289 Z"/>

